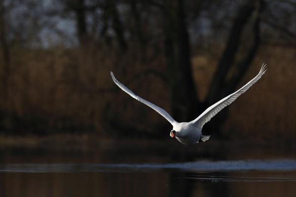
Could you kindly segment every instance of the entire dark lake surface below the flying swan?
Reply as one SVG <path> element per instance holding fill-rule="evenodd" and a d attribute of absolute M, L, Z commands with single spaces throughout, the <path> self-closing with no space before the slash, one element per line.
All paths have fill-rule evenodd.
<path fill-rule="evenodd" d="M 293 150 L 243 147 L 134 141 L 2 148 L 0 196 L 296 196 Z"/>

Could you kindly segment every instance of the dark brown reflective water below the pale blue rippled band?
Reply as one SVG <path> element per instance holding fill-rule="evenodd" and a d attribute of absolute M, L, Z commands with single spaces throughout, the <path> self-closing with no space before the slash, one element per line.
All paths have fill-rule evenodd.
<path fill-rule="evenodd" d="M 295 172 L 1 172 L 5 196 L 295 196 Z M 14 189 L 17 188 L 17 189 Z M 247 192 L 247 193 L 246 193 Z M 259 195 L 261 194 L 261 195 Z"/>

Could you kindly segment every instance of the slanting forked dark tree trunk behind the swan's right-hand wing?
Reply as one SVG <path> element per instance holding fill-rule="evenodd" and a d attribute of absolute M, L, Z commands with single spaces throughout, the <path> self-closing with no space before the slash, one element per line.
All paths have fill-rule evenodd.
<path fill-rule="evenodd" d="M 222 56 L 222 59 L 219 63 L 218 69 L 214 75 L 213 81 L 211 83 L 209 93 L 206 99 L 206 105 L 210 106 L 220 99 L 226 97 L 227 95 L 235 92 L 235 88 L 237 84 L 242 79 L 243 75 L 249 68 L 252 60 L 254 59 L 256 52 L 259 47 L 259 13 L 263 10 L 264 2 L 259 0 L 259 10 L 256 21 L 254 23 L 254 43 L 253 46 L 249 49 L 249 52 L 243 58 L 243 60 L 238 64 L 233 76 L 229 81 L 226 81 L 226 75 L 233 64 L 235 59 L 235 55 L 237 53 L 237 49 L 239 47 L 239 40 L 242 35 L 242 31 L 244 26 L 247 24 L 248 19 L 252 16 L 255 5 L 254 1 L 249 1 L 239 12 L 238 17 L 235 19 L 234 24 L 232 26 L 229 39 L 227 42 L 227 48 Z M 215 118 L 213 118 L 211 124 L 209 126 L 205 126 L 206 130 L 210 130 L 211 132 L 215 132 L 215 134 L 219 134 L 222 136 L 221 128 L 223 123 L 226 121 L 228 114 L 228 107 L 224 108 L 221 112 L 219 112 Z"/>

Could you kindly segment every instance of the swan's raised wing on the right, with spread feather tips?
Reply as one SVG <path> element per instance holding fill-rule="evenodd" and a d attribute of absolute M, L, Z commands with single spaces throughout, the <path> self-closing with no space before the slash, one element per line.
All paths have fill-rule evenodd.
<path fill-rule="evenodd" d="M 213 118 L 218 112 L 220 112 L 227 105 L 231 104 L 241 94 L 246 92 L 254 83 L 256 83 L 267 70 L 266 67 L 267 67 L 266 64 L 265 65 L 263 64 L 256 77 L 254 77 L 251 81 L 249 81 L 246 85 L 244 85 L 241 89 L 239 89 L 235 93 L 228 95 L 224 99 L 216 102 L 215 104 L 207 108 L 202 114 L 200 114 L 200 116 L 198 116 L 196 119 L 194 119 L 190 123 L 192 123 L 195 127 L 202 129 L 204 124 L 209 122 L 211 118 Z"/>

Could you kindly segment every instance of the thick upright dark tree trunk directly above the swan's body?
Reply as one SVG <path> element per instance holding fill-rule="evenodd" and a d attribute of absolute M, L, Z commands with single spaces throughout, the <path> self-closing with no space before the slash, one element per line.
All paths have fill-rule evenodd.
<path fill-rule="evenodd" d="M 190 46 L 184 14 L 184 1 L 178 0 L 177 8 L 177 64 L 172 78 L 173 117 L 187 122 L 193 119 L 197 95 L 192 79 Z"/>

